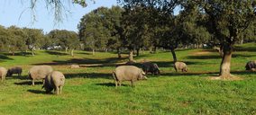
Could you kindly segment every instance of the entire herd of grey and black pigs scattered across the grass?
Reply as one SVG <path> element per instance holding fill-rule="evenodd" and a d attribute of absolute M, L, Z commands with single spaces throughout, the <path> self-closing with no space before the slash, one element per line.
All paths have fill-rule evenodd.
<path fill-rule="evenodd" d="M 187 72 L 187 65 L 184 62 L 175 62 L 173 65 L 176 72 Z M 77 68 L 71 67 L 71 68 Z M 256 60 L 249 61 L 245 66 L 246 70 L 256 71 Z M 20 66 L 14 66 L 8 70 L 0 66 L 0 77 L 1 81 L 4 82 L 5 76 L 12 76 L 14 74 L 22 75 L 23 68 Z M 144 62 L 142 63 L 142 68 L 133 66 L 131 63 L 126 63 L 124 65 L 115 66 L 113 71 L 113 78 L 115 86 L 121 86 L 123 81 L 130 81 L 132 86 L 134 82 L 138 80 L 146 80 L 146 75 L 151 73 L 151 75 L 160 75 L 160 68 L 156 63 Z M 28 73 L 29 78 L 32 80 L 32 85 L 34 85 L 35 80 L 42 80 L 43 86 L 46 93 L 60 94 L 62 88 L 65 84 L 65 75 L 59 71 L 54 71 L 51 66 L 32 66 Z"/>

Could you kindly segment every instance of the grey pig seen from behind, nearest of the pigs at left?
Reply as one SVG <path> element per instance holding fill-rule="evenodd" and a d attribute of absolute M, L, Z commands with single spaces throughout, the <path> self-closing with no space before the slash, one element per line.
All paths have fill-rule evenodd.
<path fill-rule="evenodd" d="M 46 93 L 50 93 L 54 89 L 54 93 L 60 94 L 64 84 L 65 76 L 59 71 L 53 71 L 45 77 L 42 88 L 44 87 Z"/>

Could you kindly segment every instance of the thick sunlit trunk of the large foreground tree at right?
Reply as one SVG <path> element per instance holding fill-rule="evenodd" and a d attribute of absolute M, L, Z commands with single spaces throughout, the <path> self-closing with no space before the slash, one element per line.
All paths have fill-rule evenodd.
<path fill-rule="evenodd" d="M 226 44 L 223 46 L 224 56 L 220 66 L 220 77 L 223 79 L 230 78 L 230 65 L 233 52 L 233 45 Z"/>

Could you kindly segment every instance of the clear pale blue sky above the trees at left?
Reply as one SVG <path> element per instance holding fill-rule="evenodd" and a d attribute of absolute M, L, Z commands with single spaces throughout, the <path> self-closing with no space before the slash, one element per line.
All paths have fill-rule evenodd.
<path fill-rule="evenodd" d="M 63 13 L 62 22 L 54 22 L 54 13 L 52 9 L 47 10 L 44 0 L 39 0 L 35 9 L 35 21 L 32 20 L 32 10 L 30 0 L 0 0 L 0 25 L 9 27 L 27 27 L 33 29 L 42 29 L 49 32 L 54 29 L 78 31 L 77 26 L 80 19 L 86 13 L 100 6 L 111 7 L 117 5 L 116 0 L 96 0 L 96 3 L 89 2 L 87 7 L 79 4 L 63 3 L 66 11 Z"/>

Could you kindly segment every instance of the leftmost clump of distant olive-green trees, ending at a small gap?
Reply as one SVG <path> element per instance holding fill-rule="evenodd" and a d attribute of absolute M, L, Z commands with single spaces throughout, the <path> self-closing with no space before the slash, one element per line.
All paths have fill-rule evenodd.
<path fill-rule="evenodd" d="M 41 49 L 46 46 L 49 40 L 45 38 L 43 31 L 39 29 L 18 28 L 11 26 L 9 28 L 0 27 L 0 47 L 2 51 L 14 53 L 16 51 L 24 51 L 30 49 L 34 55 L 35 49 Z"/>

